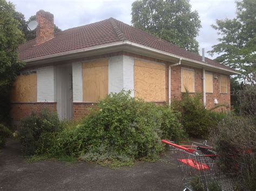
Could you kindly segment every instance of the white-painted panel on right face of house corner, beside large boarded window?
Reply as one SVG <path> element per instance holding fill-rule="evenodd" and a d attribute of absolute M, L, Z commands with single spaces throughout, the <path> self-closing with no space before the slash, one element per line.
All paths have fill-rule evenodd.
<path fill-rule="evenodd" d="M 131 96 L 134 97 L 134 58 L 131 56 L 123 56 L 123 75 L 124 75 L 124 89 L 132 90 Z"/>

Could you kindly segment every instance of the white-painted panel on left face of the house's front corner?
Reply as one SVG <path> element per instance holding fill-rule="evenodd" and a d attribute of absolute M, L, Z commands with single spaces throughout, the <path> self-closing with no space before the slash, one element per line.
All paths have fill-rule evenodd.
<path fill-rule="evenodd" d="M 118 93 L 123 89 L 123 55 L 109 59 L 109 94 Z"/>

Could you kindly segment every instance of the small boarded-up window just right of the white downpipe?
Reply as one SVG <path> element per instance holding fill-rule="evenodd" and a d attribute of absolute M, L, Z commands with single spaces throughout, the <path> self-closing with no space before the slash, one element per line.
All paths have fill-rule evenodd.
<path fill-rule="evenodd" d="M 194 70 L 192 69 L 181 69 L 182 79 L 182 92 L 194 92 Z"/>

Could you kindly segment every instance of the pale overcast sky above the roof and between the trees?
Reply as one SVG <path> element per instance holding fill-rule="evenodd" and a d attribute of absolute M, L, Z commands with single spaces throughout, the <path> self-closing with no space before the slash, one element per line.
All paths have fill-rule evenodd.
<path fill-rule="evenodd" d="M 62 30 L 94 23 L 110 17 L 131 24 L 131 4 L 134 0 L 10 0 L 26 20 L 40 9 L 53 13 L 55 24 Z M 197 10 L 202 28 L 197 40 L 201 48 L 210 51 L 217 44 L 217 31 L 211 25 L 216 19 L 234 18 L 234 0 L 191 0 Z M 211 58 L 210 55 L 207 55 Z M 216 55 L 214 55 L 215 57 Z"/>

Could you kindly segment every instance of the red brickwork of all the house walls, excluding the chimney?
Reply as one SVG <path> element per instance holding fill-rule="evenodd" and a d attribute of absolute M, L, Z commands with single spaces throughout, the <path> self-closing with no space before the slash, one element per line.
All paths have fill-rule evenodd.
<path fill-rule="evenodd" d="M 97 56 L 89 56 L 82 59 L 77 59 L 76 61 L 81 60 L 91 60 L 91 59 L 100 59 L 100 58 L 109 58 L 116 55 L 127 55 L 134 58 L 165 63 L 166 65 L 166 103 L 168 103 L 168 67 L 173 62 L 168 62 L 164 60 L 149 58 L 147 56 L 138 55 L 129 52 L 114 52 L 109 54 L 102 54 Z M 74 60 L 69 60 L 69 63 Z M 54 65 L 54 63 L 52 63 Z M 171 67 L 171 100 L 181 98 L 181 67 L 194 69 L 194 90 L 195 92 L 203 92 L 203 80 L 201 79 L 203 75 L 203 70 L 200 68 L 188 67 L 188 66 L 174 66 Z M 211 72 L 211 71 L 206 71 Z M 211 109 L 215 107 L 214 99 L 216 98 L 219 104 L 225 105 L 215 109 L 216 111 L 226 111 L 230 109 L 230 77 L 227 77 L 227 94 L 220 94 L 220 74 L 216 72 L 211 72 L 214 75 L 213 79 L 213 93 L 206 93 L 206 107 Z M 193 93 L 191 93 L 193 95 Z M 203 100 L 202 100 L 203 101 Z M 165 104 L 163 102 L 157 104 Z M 86 102 L 73 102 L 73 119 L 79 119 L 83 116 L 86 116 L 90 112 L 91 107 L 96 107 L 96 103 L 86 103 Z M 228 107 L 226 107 L 226 105 Z M 49 108 L 51 111 L 56 111 L 56 103 L 42 103 L 42 102 L 21 102 L 21 103 L 12 103 L 11 104 L 11 116 L 13 121 L 19 121 L 21 118 L 30 114 L 32 110 L 40 111 L 42 108 Z"/>

